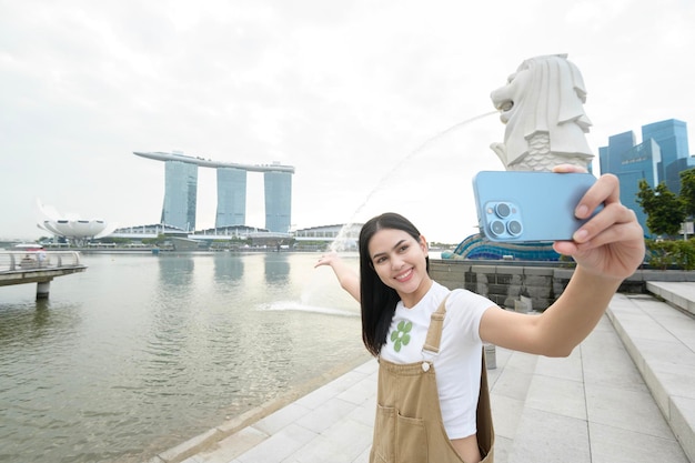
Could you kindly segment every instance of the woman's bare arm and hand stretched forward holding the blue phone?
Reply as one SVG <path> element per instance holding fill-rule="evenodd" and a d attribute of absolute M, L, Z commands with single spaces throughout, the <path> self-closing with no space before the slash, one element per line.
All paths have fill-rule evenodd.
<path fill-rule="evenodd" d="M 561 167 L 555 171 L 576 171 Z M 541 315 L 488 309 L 481 320 L 485 342 L 547 356 L 568 355 L 596 326 L 621 282 L 644 260 L 644 234 L 635 213 L 620 202 L 614 175 L 602 175 L 587 191 L 575 215 L 590 217 L 604 208 L 574 234 L 573 241 L 555 242 L 554 249 L 571 255 L 576 270 L 561 296 Z"/>

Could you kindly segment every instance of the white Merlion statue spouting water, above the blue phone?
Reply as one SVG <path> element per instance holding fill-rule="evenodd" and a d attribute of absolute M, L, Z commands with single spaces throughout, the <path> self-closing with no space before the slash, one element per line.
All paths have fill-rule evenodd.
<path fill-rule="evenodd" d="M 490 95 L 506 124 L 504 143 L 493 143 L 506 170 L 548 171 L 557 164 L 588 169 L 586 90 L 566 54 L 525 60 L 506 85 Z"/>

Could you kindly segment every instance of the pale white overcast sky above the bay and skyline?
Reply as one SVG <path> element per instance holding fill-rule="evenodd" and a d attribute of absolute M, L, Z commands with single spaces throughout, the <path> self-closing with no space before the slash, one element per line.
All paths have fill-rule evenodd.
<path fill-rule="evenodd" d="M 672 118 L 693 152 L 693 24 L 692 0 L 0 0 L 0 238 L 48 234 L 37 199 L 157 223 L 164 164 L 132 152 L 179 150 L 294 165 L 296 228 L 395 211 L 457 243 L 475 232 L 472 177 L 503 169 L 490 92 L 524 59 L 580 68 L 596 157 Z M 248 179 L 248 224 L 264 227 L 262 174 Z M 201 168 L 198 229 L 215 205 Z"/>

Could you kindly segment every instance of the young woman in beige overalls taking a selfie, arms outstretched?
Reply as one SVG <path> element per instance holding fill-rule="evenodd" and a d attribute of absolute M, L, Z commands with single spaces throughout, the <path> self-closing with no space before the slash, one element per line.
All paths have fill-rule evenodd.
<path fill-rule="evenodd" d="M 578 170 L 564 165 L 555 171 Z M 481 447 L 479 434 L 494 431 L 476 429 L 483 343 L 568 355 L 644 259 L 642 228 L 621 204 L 614 175 L 596 181 L 575 215 L 591 217 L 602 203 L 573 241 L 554 243 L 577 265 L 565 291 L 541 315 L 505 311 L 486 298 L 434 282 L 424 236 L 395 213 L 362 228 L 359 275 L 334 253 L 319 260 L 316 266 L 330 265 L 360 302 L 364 344 L 380 361 L 371 462 L 492 462 L 492 441 L 485 436 L 488 447 Z"/>

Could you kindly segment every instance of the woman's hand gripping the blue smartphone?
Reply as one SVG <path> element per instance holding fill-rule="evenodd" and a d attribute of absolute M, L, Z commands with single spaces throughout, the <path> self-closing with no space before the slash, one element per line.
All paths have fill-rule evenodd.
<path fill-rule="evenodd" d="M 553 172 L 585 170 L 558 165 Z M 624 280 L 644 261 L 644 231 L 635 212 L 621 204 L 620 182 L 613 174 L 601 175 L 574 213 L 577 219 L 586 219 L 601 204 L 603 209 L 574 233 L 573 241 L 556 241 L 553 248 L 593 274 Z"/>

